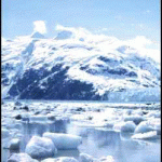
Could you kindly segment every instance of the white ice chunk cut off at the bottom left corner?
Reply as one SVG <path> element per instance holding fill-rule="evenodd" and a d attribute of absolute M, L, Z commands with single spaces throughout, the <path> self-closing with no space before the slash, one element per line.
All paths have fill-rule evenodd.
<path fill-rule="evenodd" d="M 38 162 L 38 160 L 32 159 L 27 153 L 13 153 L 8 162 Z"/>

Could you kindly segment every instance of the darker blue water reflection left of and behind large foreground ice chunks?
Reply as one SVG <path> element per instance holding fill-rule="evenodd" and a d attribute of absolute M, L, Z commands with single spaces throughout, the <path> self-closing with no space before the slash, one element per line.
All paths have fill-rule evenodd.
<path fill-rule="evenodd" d="M 33 135 L 42 136 L 44 132 L 56 132 L 56 133 L 66 133 L 67 132 L 67 121 L 64 120 L 57 120 L 54 121 L 53 123 L 29 123 L 29 122 L 22 122 L 21 123 L 21 129 L 19 132 L 23 135 L 21 137 L 21 147 L 18 151 L 15 150 L 9 150 L 9 149 L 2 149 L 2 162 L 6 162 L 8 158 L 12 153 L 17 153 L 17 152 L 24 152 L 27 143 L 30 140 L 30 138 Z M 3 139 L 3 145 L 8 145 L 10 141 L 10 138 L 6 138 L 5 140 Z M 77 153 L 76 153 L 77 154 Z"/>

